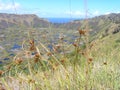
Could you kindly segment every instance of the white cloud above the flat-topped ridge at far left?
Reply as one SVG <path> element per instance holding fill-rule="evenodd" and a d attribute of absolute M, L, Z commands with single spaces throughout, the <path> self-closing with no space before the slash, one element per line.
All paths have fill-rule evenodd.
<path fill-rule="evenodd" d="M 0 10 L 13 10 L 13 9 L 18 9 L 20 8 L 20 4 L 19 3 L 3 3 L 0 2 Z"/>

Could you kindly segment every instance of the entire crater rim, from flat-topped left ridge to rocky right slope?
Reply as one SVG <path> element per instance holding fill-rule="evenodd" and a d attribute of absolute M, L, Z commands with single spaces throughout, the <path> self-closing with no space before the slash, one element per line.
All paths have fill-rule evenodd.
<path fill-rule="evenodd" d="M 84 29 L 86 26 L 85 20 L 73 20 L 68 23 L 50 23 L 49 21 L 49 19 L 40 18 L 34 14 L 17 15 L 0 13 L 0 29 L 9 27 L 49 28 L 49 25 L 51 25 L 51 28 L 54 28 L 53 30 L 60 29 L 65 31 L 78 30 L 78 28 Z M 89 18 L 88 27 L 92 30 L 90 32 L 91 36 L 95 36 L 96 38 L 116 34 L 120 32 L 120 13 Z"/>

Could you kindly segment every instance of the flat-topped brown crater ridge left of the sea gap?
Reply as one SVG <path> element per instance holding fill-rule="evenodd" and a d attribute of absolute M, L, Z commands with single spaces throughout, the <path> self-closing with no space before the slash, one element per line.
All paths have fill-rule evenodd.
<path fill-rule="evenodd" d="M 0 13 L 0 29 L 9 27 L 48 27 L 49 22 L 46 19 L 39 18 L 34 14 L 6 14 Z"/>

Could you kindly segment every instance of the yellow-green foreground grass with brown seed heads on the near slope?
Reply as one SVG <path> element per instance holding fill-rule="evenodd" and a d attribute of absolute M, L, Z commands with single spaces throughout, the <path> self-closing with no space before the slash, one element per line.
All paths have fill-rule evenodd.
<path fill-rule="evenodd" d="M 79 30 L 72 44 L 59 37 L 52 50 L 31 35 L 9 64 L 1 66 L 0 90 L 120 90 L 119 33 L 88 43 Z"/>

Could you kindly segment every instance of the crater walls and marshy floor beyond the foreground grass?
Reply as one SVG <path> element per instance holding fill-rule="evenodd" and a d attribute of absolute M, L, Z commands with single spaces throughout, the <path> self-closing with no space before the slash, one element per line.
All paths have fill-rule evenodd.
<path fill-rule="evenodd" d="M 6 56 L 6 53 L 8 53 L 7 55 L 15 54 L 16 48 L 21 48 L 23 41 L 28 38 L 28 32 L 35 41 L 41 40 L 44 44 L 48 41 L 56 43 L 59 41 L 61 33 L 65 35 L 65 42 L 73 43 L 78 36 L 74 32 L 78 28 L 84 29 L 85 27 L 85 20 L 74 20 L 64 24 L 50 23 L 49 20 L 39 18 L 34 14 L 0 13 L 0 54 L 4 55 L 1 58 L 9 57 Z M 98 42 L 98 46 L 101 42 L 103 43 L 103 40 L 104 43 L 109 41 L 109 44 L 115 43 L 116 45 L 117 43 L 117 46 L 120 45 L 120 14 L 112 13 L 89 18 L 88 28 L 90 29 L 91 41 L 101 40 Z"/>

